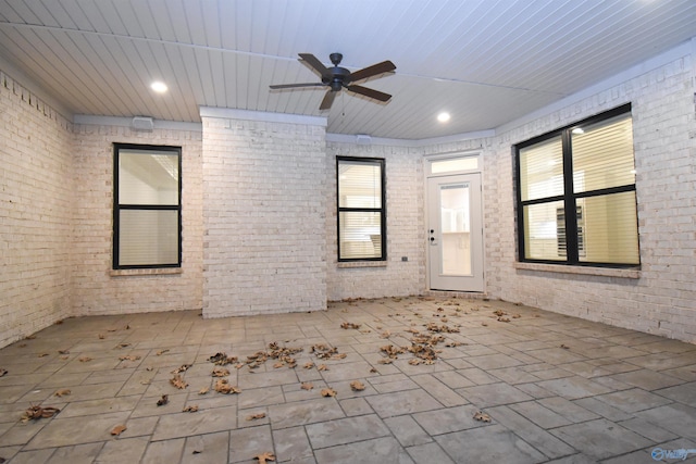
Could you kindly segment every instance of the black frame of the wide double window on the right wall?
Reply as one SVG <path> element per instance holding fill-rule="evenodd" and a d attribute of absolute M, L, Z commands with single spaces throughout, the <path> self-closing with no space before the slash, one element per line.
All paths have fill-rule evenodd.
<path fill-rule="evenodd" d="M 517 236 L 518 236 L 518 261 L 519 262 L 554 264 L 558 266 L 585 266 L 585 267 L 611 267 L 611 268 L 639 268 L 641 267 L 639 235 L 637 237 L 638 239 L 638 263 L 637 264 L 580 261 L 581 255 L 585 252 L 584 237 L 580 237 L 580 246 L 579 246 L 579 225 L 577 224 L 579 224 L 579 217 L 582 220 L 582 213 L 580 215 L 563 214 L 564 222 L 566 222 L 564 224 L 566 260 L 564 261 L 525 258 L 526 243 L 525 243 L 525 237 L 524 237 L 524 221 L 525 221 L 524 206 L 532 205 L 532 204 L 542 204 L 542 203 L 562 201 L 563 211 L 577 212 L 579 199 L 636 191 L 635 178 L 634 178 L 634 183 L 630 185 L 602 188 L 602 189 L 589 190 L 589 191 L 582 191 L 582 192 L 573 191 L 573 159 L 572 159 L 573 153 L 572 153 L 572 145 L 571 145 L 572 130 L 580 126 L 600 123 L 602 121 L 610 120 L 612 117 L 617 117 L 623 114 L 629 114 L 632 116 L 631 110 L 632 110 L 632 104 L 626 103 L 621 106 L 614 108 L 612 110 L 596 114 L 592 117 L 587 117 L 583 121 L 579 121 L 571 125 L 552 130 L 550 133 L 540 135 L 538 137 L 534 137 L 530 140 L 525 140 L 523 142 L 517 143 L 512 147 L 513 159 L 514 159 L 514 175 L 515 175 L 514 187 L 515 187 L 515 197 L 517 197 L 515 206 L 517 206 Z M 523 201 L 522 186 L 521 186 L 522 177 L 521 177 L 520 151 L 524 148 L 537 145 L 539 142 L 543 142 L 559 136 L 561 138 L 561 147 L 562 147 L 563 193 L 555 197 L 544 197 L 539 199 Z M 635 140 L 635 138 L 633 139 Z M 634 153 L 635 153 L 635 150 L 634 150 Z M 635 163 L 635 154 L 634 154 L 634 163 Z M 637 213 L 637 204 L 636 204 L 636 213 Z M 582 230 L 583 228 L 582 224 L 580 228 Z M 637 234 L 637 228 L 636 228 L 636 234 Z"/>

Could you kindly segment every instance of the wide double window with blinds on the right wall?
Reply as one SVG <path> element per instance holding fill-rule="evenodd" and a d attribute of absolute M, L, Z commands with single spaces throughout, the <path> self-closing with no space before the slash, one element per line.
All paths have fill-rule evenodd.
<path fill-rule="evenodd" d="M 639 264 L 630 104 L 514 151 L 520 261 Z"/>

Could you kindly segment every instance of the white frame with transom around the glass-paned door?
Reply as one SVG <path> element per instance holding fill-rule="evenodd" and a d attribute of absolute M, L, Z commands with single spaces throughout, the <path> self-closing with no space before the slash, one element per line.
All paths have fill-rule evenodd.
<path fill-rule="evenodd" d="M 455 166 L 451 171 L 437 171 L 437 172 L 433 172 L 433 163 L 437 163 L 440 161 L 456 161 L 456 160 L 461 160 L 463 161 L 461 164 L 461 166 Z M 482 228 L 482 234 L 481 234 L 481 272 L 483 274 L 483 285 L 481 290 L 474 290 L 474 291 L 468 291 L 468 290 L 451 290 L 451 291 L 461 291 L 461 292 L 471 292 L 471 293 L 485 293 L 486 291 L 486 253 L 485 253 L 485 249 L 486 249 L 486 242 L 485 242 L 485 238 L 486 238 L 486 234 L 485 234 L 485 222 L 484 222 L 484 205 L 485 205 L 485 197 L 483 195 L 483 158 L 481 155 L 481 151 L 478 150 L 472 150 L 472 151 L 456 151 L 456 152 L 449 152 L 449 153 L 438 153 L 438 154 L 434 154 L 434 155 L 426 155 L 424 156 L 424 168 L 423 168 L 423 197 L 424 197 L 424 205 L 425 208 L 423 209 L 423 243 L 425 247 L 425 285 L 426 285 L 426 289 L 427 290 L 434 290 L 434 291 L 438 291 L 440 289 L 433 289 L 432 288 L 432 283 L 431 283 L 431 246 L 428 242 L 428 231 L 427 231 L 427 227 L 428 227 L 428 221 L 430 221 L 430 213 L 431 213 L 431 198 L 430 198 L 430 193 L 428 193 L 428 180 L 431 178 L 434 177 L 449 177 L 449 176 L 457 176 L 457 175 L 462 175 L 462 174 L 478 174 L 480 175 L 480 180 L 481 180 L 481 185 L 482 185 L 482 191 L 481 191 L 481 228 Z M 448 291 L 448 290 L 445 290 Z"/>

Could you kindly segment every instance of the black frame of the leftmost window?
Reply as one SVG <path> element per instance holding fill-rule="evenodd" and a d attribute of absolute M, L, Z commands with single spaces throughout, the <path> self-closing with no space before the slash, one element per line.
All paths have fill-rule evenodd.
<path fill-rule="evenodd" d="M 121 150 L 139 150 L 139 151 L 170 151 L 178 156 L 178 204 L 120 204 L 119 203 L 119 156 Z M 163 145 L 139 145 L 139 143 L 113 143 L 113 243 L 112 243 L 112 268 L 113 269 L 157 269 L 157 268 L 176 268 L 182 267 L 182 147 L 163 146 Z M 177 235 L 178 235 L 178 252 L 176 263 L 167 264 L 120 264 L 120 230 L 121 230 L 121 211 L 140 210 L 140 211 L 176 211 L 177 212 Z"/>

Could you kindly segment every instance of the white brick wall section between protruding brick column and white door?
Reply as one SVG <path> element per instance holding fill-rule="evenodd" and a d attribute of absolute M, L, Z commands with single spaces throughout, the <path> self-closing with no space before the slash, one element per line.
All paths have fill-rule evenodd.
<path fill-rule="evenodd" d="M 336 156 L 384 158 L 387 261 L 384 267 L 338 267 Z M 425 289 L 423 158 L 412 149 L 331 142 L 327 147 L 328 299 L 418 294 Z M 401 261 L 407 256 L 408 261 Z"/>

